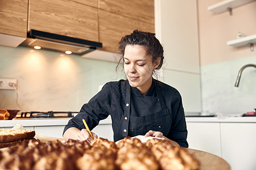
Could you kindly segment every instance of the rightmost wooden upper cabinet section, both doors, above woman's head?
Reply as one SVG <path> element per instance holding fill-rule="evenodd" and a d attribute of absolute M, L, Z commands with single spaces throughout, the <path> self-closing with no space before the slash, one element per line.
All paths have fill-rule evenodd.
<path fill-rule="evenodd" d="M 118 53 L 118 42 L 134 29 L 155 32 L 154 0 L 98 1 L 99 37 L 102 42 L 100 50 Z"/>

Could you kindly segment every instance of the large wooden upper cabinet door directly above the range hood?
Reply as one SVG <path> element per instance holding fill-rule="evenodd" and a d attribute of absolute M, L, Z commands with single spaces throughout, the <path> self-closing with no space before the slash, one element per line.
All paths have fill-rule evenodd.
<path fill-rule="evenodd" d="M 98 41 L 97 0 L 30 0 L 28 31 L 36 29 L 79 39 Z M 89 2 L 89 0 L 88 0 Z M 94 2 L 94 3 L 93 3 Z"/>

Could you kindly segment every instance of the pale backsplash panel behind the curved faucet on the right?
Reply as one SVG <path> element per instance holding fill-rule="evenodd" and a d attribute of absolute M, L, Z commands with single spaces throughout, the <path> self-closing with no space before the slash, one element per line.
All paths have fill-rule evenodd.
<path fill-rule="evenodd" d="M 242 71 L 240 84 L 235 87 L 242 66 L 256 64 L 256 56 L 233 59 L 201 66 L 202 110 L 211 113 L 242 114 L 256 108 L 256 69 Z"/>

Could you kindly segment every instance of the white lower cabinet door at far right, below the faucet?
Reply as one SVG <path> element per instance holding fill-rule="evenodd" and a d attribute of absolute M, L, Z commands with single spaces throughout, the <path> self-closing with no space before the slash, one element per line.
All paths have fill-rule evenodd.
<path fill-rule="evenodd" d="M 222 158 L 233 170 L 256 168 L 255 144 L 255 123 L 221 123 Z"/>

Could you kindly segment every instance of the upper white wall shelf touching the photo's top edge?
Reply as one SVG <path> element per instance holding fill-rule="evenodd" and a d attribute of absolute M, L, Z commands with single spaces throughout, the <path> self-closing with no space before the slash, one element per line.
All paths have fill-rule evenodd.
<path fill-rule="evenodd" d="M 232 12 L 232 8 L 241 6 L 241 5 L 251 2 L 251 1 L 255 1 L 255 0 L 225 0 L 225 1 L 221 1 L 219 3 L 216 3 L 212 6 L 209 6 L 207 9 L 208 9 L 208 11 L 212 11 L 215 14 L 218 14 L 218 13 L 224 12 L 224 11 Z M 230 15 L 232 15 L 232 13 Z"/>

